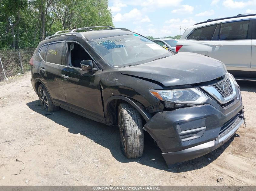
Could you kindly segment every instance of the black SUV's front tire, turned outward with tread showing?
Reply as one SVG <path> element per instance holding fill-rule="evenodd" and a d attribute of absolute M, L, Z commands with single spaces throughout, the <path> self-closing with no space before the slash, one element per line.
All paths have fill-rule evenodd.
<path fill-rule="evenodd" d="M 120 147 L 126 158 L 139 158 L 144 149 L 144 132 L 141 114 L 129 103 L 118 106 Z"/>

